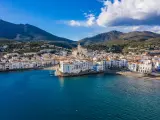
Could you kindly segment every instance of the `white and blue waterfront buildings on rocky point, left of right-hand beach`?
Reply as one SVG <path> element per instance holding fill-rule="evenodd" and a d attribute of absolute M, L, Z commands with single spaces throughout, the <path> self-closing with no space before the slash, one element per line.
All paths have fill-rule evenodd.
<path fill-rule="evenodd" d="M 108 69 L 121 69 L 127 67 L 127 60 L 102 60 L 102 61 L 91 61 L 91 60 L 66 60 L 60 61 L 59 71 L 62 73 L 78 74 L 81 72 L 103 72 Z"/>

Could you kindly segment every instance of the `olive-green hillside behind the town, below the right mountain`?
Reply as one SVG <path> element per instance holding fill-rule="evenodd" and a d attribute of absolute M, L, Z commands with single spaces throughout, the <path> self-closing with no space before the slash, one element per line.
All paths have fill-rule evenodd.
<path fill-rule="evenodd" d="M 105 50 L 113 53 L 129 53 L 137 54 L 147 52 L 150 50 L 159 50 L 160 38 L 153 38 L 149 40 L 113 40 L 106 43 L 99 43 L 86 46 L 92 50 Z"/>

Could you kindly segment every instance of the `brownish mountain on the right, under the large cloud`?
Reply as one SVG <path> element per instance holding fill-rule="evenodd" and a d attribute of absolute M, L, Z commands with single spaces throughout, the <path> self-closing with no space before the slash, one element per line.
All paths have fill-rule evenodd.
<path fill-rule="evenodd" d="M 135 31 L 129 33 L 122 33 L 119 31 L 111 31 L 107 33 L 101 33 L 93 37 L 88 37 L 80 40 L 79 42 L 82 45 L 90 45 L 90 44 L 97 44 L 97 43 L 105 43 L 107 41 L 112 40 L 148 40 L 151 38 L 160 37 L 160 34 L 152 33 L 149 31 Z"/>

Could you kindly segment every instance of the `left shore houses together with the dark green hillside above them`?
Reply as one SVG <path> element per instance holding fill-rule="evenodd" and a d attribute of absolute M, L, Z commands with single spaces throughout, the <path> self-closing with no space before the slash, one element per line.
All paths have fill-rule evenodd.
<path fill-rule="evenodd" d="M 68 49 L 47 42 L 15 42 L 0 47 L 0 71 L 43 69 L 58 64 Z"/>

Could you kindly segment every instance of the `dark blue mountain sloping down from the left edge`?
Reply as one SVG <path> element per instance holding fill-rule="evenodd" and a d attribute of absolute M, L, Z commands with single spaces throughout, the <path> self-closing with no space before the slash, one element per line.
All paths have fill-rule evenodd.
<path fill-rule="evenodd" d="M 74 43 L 74 41 L 58 37 L 29 24 L 13 24 L 0 20 L 0 38 L 19 41 L 55 41 Z"/>

